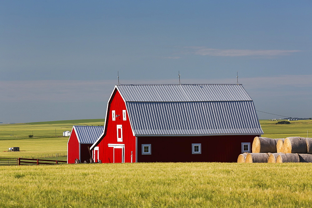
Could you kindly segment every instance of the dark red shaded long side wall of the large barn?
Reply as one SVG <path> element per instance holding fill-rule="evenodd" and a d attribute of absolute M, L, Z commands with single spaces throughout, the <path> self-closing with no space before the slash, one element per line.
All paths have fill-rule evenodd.
<path fill-rule="evenodd" d="M 241 142 L 252 144 L 255 135 L 138 137 L 138 162 L 237 162 Z M 192 144 L 201 154 L 192 154 Z M 151 155 L 142 155 L 142 144 L 151 144 Z M 250 145 L 251 149 L 251 145 Z"/>

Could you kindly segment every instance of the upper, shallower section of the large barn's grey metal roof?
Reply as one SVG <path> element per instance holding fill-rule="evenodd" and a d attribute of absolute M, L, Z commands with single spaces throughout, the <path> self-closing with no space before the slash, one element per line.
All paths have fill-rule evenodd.
<path fill-rule="evenodd" d="M 238 84 L 117 85 L 125 102 L 251 101 Z"/>

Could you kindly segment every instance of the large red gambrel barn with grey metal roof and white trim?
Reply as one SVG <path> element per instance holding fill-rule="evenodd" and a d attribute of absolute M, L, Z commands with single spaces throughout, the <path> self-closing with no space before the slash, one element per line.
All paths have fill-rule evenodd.
<path fill-rule="evenodd" d="M 236 162 L 263 134 L 241 84 L 117 85 L 95 162 Z"/>

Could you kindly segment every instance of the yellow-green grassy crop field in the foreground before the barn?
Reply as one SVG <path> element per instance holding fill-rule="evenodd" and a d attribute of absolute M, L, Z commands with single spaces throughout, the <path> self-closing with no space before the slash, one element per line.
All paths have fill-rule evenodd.
<path fill-rule="evenodd" d="M 310 207 L 307 163 L 0 167 L 1 207 Z"/>

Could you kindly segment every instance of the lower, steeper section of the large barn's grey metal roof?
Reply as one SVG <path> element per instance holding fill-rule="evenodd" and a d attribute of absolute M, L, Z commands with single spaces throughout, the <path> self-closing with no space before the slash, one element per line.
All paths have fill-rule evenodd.
<path fill-rule="evenodd" d="M 263 134 L 252 101 L 126 102 L 135 135 Z"/>

